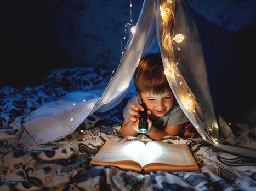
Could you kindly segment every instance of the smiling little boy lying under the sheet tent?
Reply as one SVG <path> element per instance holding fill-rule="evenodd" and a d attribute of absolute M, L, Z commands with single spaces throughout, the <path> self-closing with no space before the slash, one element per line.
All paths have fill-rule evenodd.
<path fill-rule="evenodd" d="M 122 136 L 138 135 L 139 110 L 144 110 L 141 103 L 145 103 L 148 109 L 147 136 L 160 140 L 167 135 L 179 135 L 189 120 L 170 89 L 160 54 L 148 54 L 140 60 L 134 82 L 139 94 L 130 98 L 123 110 Z"/>

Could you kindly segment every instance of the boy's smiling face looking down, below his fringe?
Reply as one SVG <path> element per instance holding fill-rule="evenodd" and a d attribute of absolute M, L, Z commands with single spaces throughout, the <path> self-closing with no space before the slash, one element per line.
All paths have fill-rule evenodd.
<path fill-rule="evenodd" d="M 174 103 L 174 95 L 172 92 L 163 94 L 140 93 L 141 99 L 146 104 L 147 109 L 151 111 L 151 115 L 155 117 L 162 117 L 170 109 Z"/>

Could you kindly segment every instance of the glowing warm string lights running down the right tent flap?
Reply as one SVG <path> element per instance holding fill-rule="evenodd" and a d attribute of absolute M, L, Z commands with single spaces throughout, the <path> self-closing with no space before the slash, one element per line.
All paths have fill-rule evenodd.
<path fill-rule="evenodd" d="M 197 103 L 197 100 L 194 96 L 192 96 L 189 92 L 190 89 L 189 87 L 186 85 L 186 81 L 183 80 L 183 76 L 180 74 L 179 68 L 175 68 L 175 65 L 178 64 L 178 62 L 176 64 L 173 63 L 174 59 L 174 51 L 173 48 L 175 47 L 178 51 L 180 51 L 180 47 L 178 47 L 176 45 L 176 43 L 183 43 L 184 42 L 184 35 L 183 34 L 176 34 L 174 36 L 174 26 L 175 26 L 175 16 L 174 16 L 174 5 L 171 5 L 170 3 L 172 3 L 172 1 L 167 0 L 167 1 L 161 1 L 161 5 L 159 7 L 160 9 L 160 17 L 161 17 L 161 21 L 162 21 L 162 47 L 164 47 L 165 52 L 166 52 L 166 57 L 169 59 L 169 63 L 170 63 L 170 67 L 168 69 L 164 70 L 164 74 L 173 80 L 172 85 L 175 85 L 177 89 L 177 93 L 178 96 L 180 98 L 180 102 L 181 104 L 184 106 L 185 110 L 187 112 L 189 112 L 190 114 L 192 113 L 192 118 L 195 119 L 195 123 L 198 122 L 198 120 L 200 120 L 200 116 L 201 115 L 201 108 Z M 172 17 L 171 17 L 172 16 Z M 169 43 L 171 42 L 171 43 Z M 177 54 L 179 55 L 179 54 Z M 179 57 L 178 57 L 179 58 Z M 179 58 L 180 59 L 180 58 Z M 179 76 L 179 86 L 177 85 L 177 82 L 175 80 L 175 77 Z M 197 112 L 198 114 L 197 114 Z M 206 140 L 206 136 L 207 139 L 213 141 L 214 143 L 218 144 L 218 138 L 214 135 L 214 129 L 209 128 L 209 133 L 211 132 L 211 135 L 214 136 L 209 136 L 209 133 L 206 132 L 206 128 L 204 128 L 204 126 L 201 127 L 200 124 L 195 126 L 198 131 L 200 131 L 202 138 L 204 140 Z"/>

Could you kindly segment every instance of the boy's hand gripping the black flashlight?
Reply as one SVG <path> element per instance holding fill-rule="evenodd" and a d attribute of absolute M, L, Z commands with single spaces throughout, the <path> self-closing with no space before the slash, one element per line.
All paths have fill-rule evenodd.
<path fill-rule="evenodd" d="M 131 105 L 130 109 L 129 109 L 129 113 L 130 113 L 130 121 L 132 121 L 132 129 L 134 130 L 134 132 L 136 133 L 140 133 L 139 132 L 139 119 L 140 119 L 140 115 L 139 115 L 139 110 L 144 111 L 143 106 L 141 105 Z M 150 110 L 147 110 L 147 114 L 151 114 Z M 147 120 L 149 122 L 149 129 L 152 125 L 152 121 L 151 120 Z"/>

